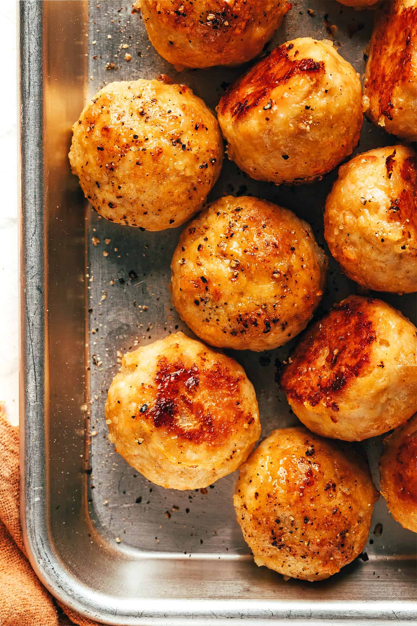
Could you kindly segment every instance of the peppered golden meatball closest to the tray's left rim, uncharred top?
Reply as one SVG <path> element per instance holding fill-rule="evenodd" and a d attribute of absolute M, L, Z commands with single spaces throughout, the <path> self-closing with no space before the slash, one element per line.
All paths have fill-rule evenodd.
<path fill-rule="evenodd" d="M 73 126 L 73 173 L 98 213 L 146 230 L 201 208 L 223 162 L 214 115 L 185 85 L 110 83 Z"/>

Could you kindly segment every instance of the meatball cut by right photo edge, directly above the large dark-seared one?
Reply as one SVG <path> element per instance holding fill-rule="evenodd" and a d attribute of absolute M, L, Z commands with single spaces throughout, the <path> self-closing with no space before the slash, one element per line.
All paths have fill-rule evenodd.
<path fill-rule="evenodd" d="M 416 153 L 375 148 L 339 169 L 324 237 L 344 273 L 367 289 L 417 291 Z"/>

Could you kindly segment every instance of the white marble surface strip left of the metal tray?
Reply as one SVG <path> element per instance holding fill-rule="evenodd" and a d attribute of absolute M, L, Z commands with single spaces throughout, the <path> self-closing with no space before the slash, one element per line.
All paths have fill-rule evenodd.
<path fill-rule="evenodd" d="M 3 298 L 0 306 L 0 401 L 13 424 L 19 420 L 19 272 L 18 272 L 18 4 L 0 3 L 3 49 L 3 88 L 0 100 L 0 172 L 3 184 L 0 209 L 0 272 Z"/>

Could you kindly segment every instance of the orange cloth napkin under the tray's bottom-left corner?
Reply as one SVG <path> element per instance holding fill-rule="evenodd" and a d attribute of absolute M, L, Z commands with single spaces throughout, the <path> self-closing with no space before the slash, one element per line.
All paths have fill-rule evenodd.
<path fill-rule="evenodd" d="M 63 626 L 71 623 L 98 626 L 98 622 L 81 617 L 55 600 L 28 561 L 19 517 L 19 433 L 9 424 L 1 404 L 0 623 L 1 626 Z"/>

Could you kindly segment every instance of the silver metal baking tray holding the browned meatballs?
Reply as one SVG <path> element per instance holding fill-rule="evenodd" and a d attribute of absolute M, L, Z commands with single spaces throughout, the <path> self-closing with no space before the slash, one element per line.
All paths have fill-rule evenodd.
<path fill-rule="evenodd" d="M 168 292 L 181 228 L 141 232 L 99 218 L 69 170 L 71 125 L 104 81 L 166 73 L 214 109 L 242 68 L 177 73 L 149 44 L 130 2 L 24 1 L 19 9 L 21 512 L 39 577 L 57 598 L 108 624 L 416 623 L 416 535 L 393 521 L 383 498 L 361 558 L 323 582 L 284 582 L 256 567 L 243 541 L 236 475 L 208 490 L 164 490 L 114 453 L 103 409 L 117 351 L 176 329 L 190 334 Z M 299 0 L 269 48 L 297 36 L 334 38 L 363 74 L 372 17 L 334 0 Z M 396 141 L 364 121 L 356 151 Z M 249 193 L 282 204 L 324 245 L 323 205 L 335 177 L 274 187 L 226 160 L 210 197 Z M 331 261 L 316 316 L 356 290 Z M 417 321 L 415 295 L 383 298 Z M 256 388 L 263 436 L 297 421 L 275 381 L 277 359 L 292 346 L 232 353 Z M 363 448 L 378 485 L 380 439 Z"/>

